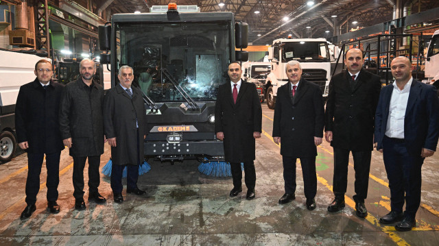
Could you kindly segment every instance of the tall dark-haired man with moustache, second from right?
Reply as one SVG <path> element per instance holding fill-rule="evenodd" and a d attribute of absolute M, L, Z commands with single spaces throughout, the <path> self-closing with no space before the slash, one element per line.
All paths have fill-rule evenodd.
<path fill-rule="evenodd" d="M 347 70 L 331 78 L 324 134 L 334 149 L 335 199 L 328 211 L 337 212 L 344 208 L 349 152 L 352 151 L 355 170 L 353 199 L 356 214 L 361 218 L 368 214 L 364 199 L 368 195 L 374 117 L 381 90 L 379 77 L 361 69 L 363 63 L 363 51 L 350 49 L 344 60 Z"/>

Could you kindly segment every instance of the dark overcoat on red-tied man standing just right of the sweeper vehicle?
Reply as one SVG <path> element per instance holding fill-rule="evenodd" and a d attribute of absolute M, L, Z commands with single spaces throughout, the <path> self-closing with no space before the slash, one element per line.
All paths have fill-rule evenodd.
<path fill-rule="evenodd" d="M 224 132 L 226 162 L 255 159 L 253 132 L 262 132 L 261 101 L 254 84 L 243 82 L 233 102 L 230 82 L 218 88 L 215 104 L 215 133 Z"/>

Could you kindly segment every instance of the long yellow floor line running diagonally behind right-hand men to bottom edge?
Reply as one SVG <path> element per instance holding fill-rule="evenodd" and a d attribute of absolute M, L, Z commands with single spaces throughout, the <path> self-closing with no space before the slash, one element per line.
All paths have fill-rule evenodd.
<path fill-rule="evenodd" d="M 272 140 L 272 142 L 274 143 L 272 136 L 270 136 L 264 130 L 262 130 L 262 133 L 265 136 L 267 136 L 270 140 Z M 328 181 L 325 180 L 324 177 L 320 177 L 320 175 L 317 174 L 317 180 L 320 183 L 322 183 L 325 187 L 327 187 L 329 190 L 331 190 L 331 192 L 332 192 L 333 186 L 329 185 Z M 351 199 L 350 197 L 347 197 L 345 195 L 344 201 L 345 201 L 346 205 L 350 206 L 351 208 L 353 208 L 355 210 L 355 201 L 353 201 L 353 199 Z M 366 219 L 366 221 L 369 221 L 369 223 L 371 223 L 372 225 L 379 227 L 381 229 L 381 231 L 384 232 L 385 234 L 388 234 L 390 239 L 392 239 L 392 241 L 394 241 L 396 243 L 396 245 L 409 245 L 407 243 L 407 241 L 405 241 L 403 238 L 401 238 L 400 236 L 398 236 L 397 234 L 394 233 L 394 232 L 396 232 L 396 230 L 393 226 L 381 226 L 379 224 L 379 220 L 377 218 L 375 218 L 374 216 L 372 216 L 372 214 L 370 214 L 370 213 L 368 214 L 368 216 L 365 219 Z"/>

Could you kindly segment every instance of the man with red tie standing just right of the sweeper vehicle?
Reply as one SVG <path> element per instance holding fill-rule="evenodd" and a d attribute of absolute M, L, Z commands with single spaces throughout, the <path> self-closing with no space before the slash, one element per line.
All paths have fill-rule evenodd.
<path fill-rule="evenodd" d="M 233 177 L 233 189 L 230 197 L 236 197 L 241 191 L 244 162 L 246 199 L 254 198 L 256 171 L 254 171 L 255 138 L 261 138 L 262 109 L 261 101 L 254 84 L 241 80 L 241 66 L 238 62 L 228 65 L 230 83 L 218 88 L 215 104 L 215 132 L 219 140 L 224 141 L 226 162 L 230 162 Z"/>

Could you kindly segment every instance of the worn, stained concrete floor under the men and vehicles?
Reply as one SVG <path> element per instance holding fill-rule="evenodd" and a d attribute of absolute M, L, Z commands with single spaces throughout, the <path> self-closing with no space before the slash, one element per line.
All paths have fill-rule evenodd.
<path fill-rule="evenodd" d="M 396 232 L 379 217 L 390 211 L 388 180 L 379 152 L 372 153 L 366 219 L 355 216 L 350 164 L 346 208 L 329 214 L 333 199 L 332 147 L 318 147 L 317 208 L 305 207 L 300 164 L 297 166 L 296 200 L 279 205 L 283 174 L 279 147 L 271 138 L 273 110 L 263 103 L 263 136 L 257 140 L 256 199 L 230 198 L 231 178 L 198 172 L 198 162 L 161 163 L 150 160 L 152 170 L 139 177 L 147 191 L 139 197 L 126 194 L 123 204 L 112 199 L 110 180 L 102 175 L 99 192 L 104 205 L 86 201 L 86 210 L 74 210 L 73 161 L 67 150 L 60 162 L 59 214 L 47 212 L 45 168 L 41 174 L 37 210 L 25 221 L 27 156 L 21 154 L 0 166 L 0 245 L 439 245 L 439 154 L 423 165 L 423 195 L 412 232 Z M 108 145 L 101 168 L 110 157 Z M 351 158 L 352 163 L 352 158 Z M 88 196 L 86 188 L 86 196 Z"/>

